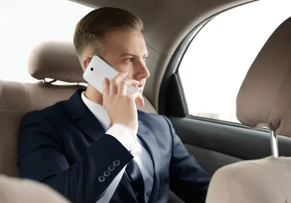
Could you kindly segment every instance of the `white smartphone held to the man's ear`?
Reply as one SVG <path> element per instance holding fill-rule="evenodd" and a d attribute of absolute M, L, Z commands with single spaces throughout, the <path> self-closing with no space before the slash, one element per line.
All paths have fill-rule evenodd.
<path fill-rule="evenodd" d="M 117 71 L 112 65 L 106 62 L 100 56 L 95 55 L 86 68 L 83 74 L 83 78 L 103 94 L 102 78 L 108 78 L 110 81 L 118 74 L 119 71 Z M 124 78 L 123 80 L 126 79 L 128 78 Z M 130 94 L 134 91 L 139 92 L 139 88 L 137 86 L 131 85 L 128 87 L 126 94 Z"/>

